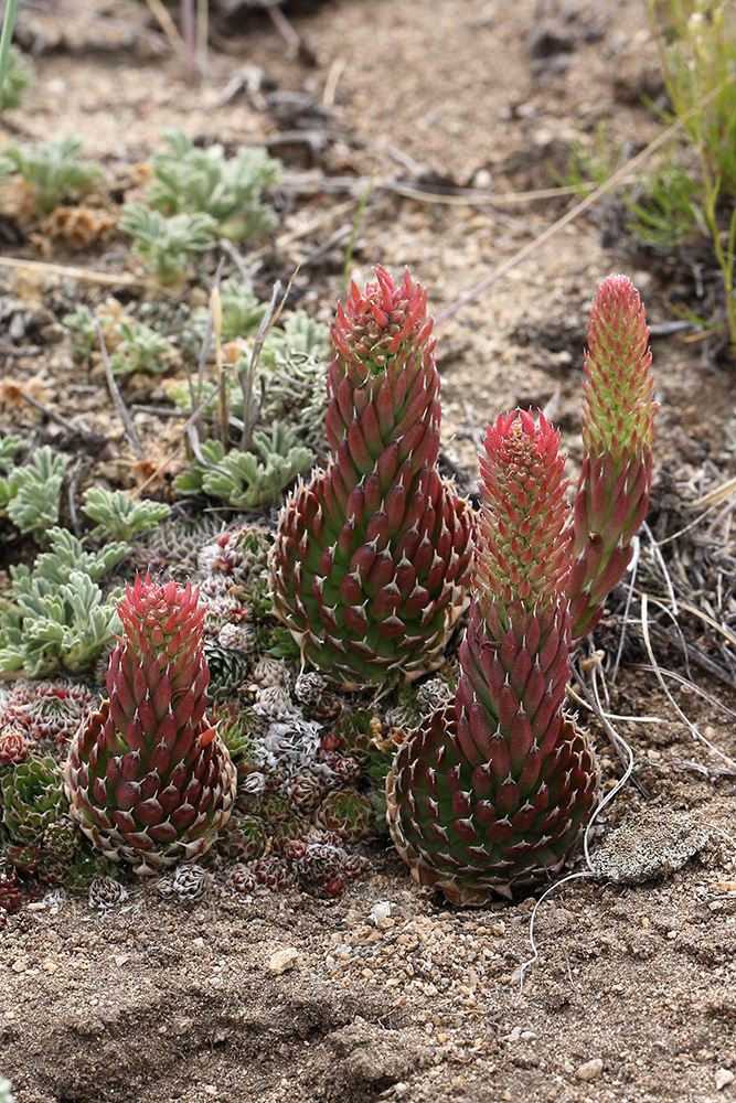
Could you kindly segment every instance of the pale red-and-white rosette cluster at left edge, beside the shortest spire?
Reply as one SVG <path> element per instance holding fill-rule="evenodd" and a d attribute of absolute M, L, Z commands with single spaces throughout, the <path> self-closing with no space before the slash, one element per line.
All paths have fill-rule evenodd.
<path fill-rule="evenodd" d="M 94 702 L 81 684 L 17 682 L 0 706 L 0 763 L 23 762 L 29 753 L 65 754 Z"/>

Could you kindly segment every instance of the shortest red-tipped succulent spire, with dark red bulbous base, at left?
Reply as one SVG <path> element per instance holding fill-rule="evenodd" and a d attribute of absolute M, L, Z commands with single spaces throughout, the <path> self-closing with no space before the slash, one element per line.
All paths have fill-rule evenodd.
<path fill-rule="evenodd" d="M 64 769 L 72 817 L 138 874 L 202 854 L 235 801 L 235 767 L 205 715 L 198 597 L 190 582 L 148 576 L 127 588 L 109 700 L 81 726 Z"/>

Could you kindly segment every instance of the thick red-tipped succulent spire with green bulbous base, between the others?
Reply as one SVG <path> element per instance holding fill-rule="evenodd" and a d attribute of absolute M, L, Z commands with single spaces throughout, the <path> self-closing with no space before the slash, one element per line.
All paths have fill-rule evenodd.
<path fill-rule="evenodd" d="M 300 484 L 271 556 L 302 658 L 349 686 L 439 665 L 467 604 L 472 512 L 437 470 L 439 374 L 426 293 L 376 268 L 332 330 L 327 470 Z"/>

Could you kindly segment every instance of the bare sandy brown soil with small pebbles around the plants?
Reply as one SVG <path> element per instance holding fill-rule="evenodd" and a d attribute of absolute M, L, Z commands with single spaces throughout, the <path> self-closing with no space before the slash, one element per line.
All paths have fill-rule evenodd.
<path fill-rule="evenodd" d="M 226 31 L 215 21 L 227 52 L 210 51 L 198 88 L 183 84 L 170 52 L 130 30 L 148 20 L 143 4 L 96 9 L 121 22 L 23 13 L 21 41 L 40 49 L 38 84 L 25 108 L 8 114 L 8 131 L 84 133 L 111 173 L 148 157 L 172 125 L 232 146 L 265 142 L 288 173 L 281 244 L 262 258 L 263 278 L 288 277 L 307 257 L 301 304 L 323 320 L 341 292 L 344 237 L 309 258 L 350 227 L 367 176 L 375 184 L 356 278 L 376 261 L 395 274 L 408 265 L 440 313 L 563 213 L 566 199 L 510 196 L 551 186 L 550 164 L 564 168 L 578 132 L 606 117 L 631 151 L 657 130 L 639 101 L 658 87 L 636 2 L 295 3 L 287 13 L 302 36 L 298 57 L 266 17 L 243 9 Z M 243 88 L 232 93 L 238 76 Z M 329 192 L 324 176 L 338 181 Z M 417 193 L 446 184 L 493 196 L 406 197 L 402 181 Z M 313 219 L 314 229 L 295 236 Z M 643 267 L 623 251 L 615 219 L 604 229 L 600 218 L 574 222 L 438 326 L 445 449 L 471 476 L 486 422 L 525 404 L 554 411 L 574 468 L 587 312 L 609 271 L 634 279 L 651 323 L 670 317 L 682 266 Z M 31 256 L 23 243 L 2 248 Z M 54 259 L 84 263 L 63 249 Z M 116 245 L 103 267 L 130 264 Z M 0 269 L 0 279 L 17 293 L 11 272 Z M 63 293 L 104 292 L 65 285 Z M 653 350 L 662 410 L 652 524 L 661 538 L 686 523 L 683 500 L 714 472 L 734 473 L 733 388 L 730 370 L 708 364 L 698 345 L 658 338 Z M 45 373 L 61 409 L 71 401 L 58 387 L 64 371 L 54 340 L 40 361 L 3 370 Z M 74 401 L 88 403 L 89 425 L 109 417 L 99 396 Z M 30 417 L 15 410 L 11 420 L 22 427 Z M 617 640 L 604 627 L 596 644 L 615 651 Z M 610 708 L 664 722 L 618 725 L 646 797 L 628 788 L 606 827 L 630 811 L 657 821 L 675 810 L 733 833 L 733 777 L 715 769 L 721 760 L 694 740 L 638 665 L 646 662 L 632 639 Z M 663 651 L 661 662 L 679 658 Z M 722 683 L 696 679 L 734 706 Z M 704 735 L 736 756 L 733 719 L 674 693 Z M 610 785 L 615 756 L 594 732 Z M 735 857 L 712 831 L 664 879 L 562 886 L 540 909 L 540 960 L 523 977 L 534 897 L 449 910 L 381 844 L 370 875 L 337 901 L 296 891 L 248 900 L 218 882 L 190 906 L 143 886 L 104 917 L 78 901 L 39 901 L 0 934 L 0 1071 L 18 1103 L 736 1097 Z M 583 868 L 582 858 L 570 865 Z M 382 901 L 387 917 L 375 911 Z"/>

